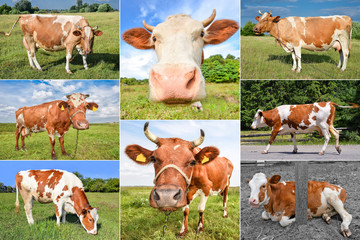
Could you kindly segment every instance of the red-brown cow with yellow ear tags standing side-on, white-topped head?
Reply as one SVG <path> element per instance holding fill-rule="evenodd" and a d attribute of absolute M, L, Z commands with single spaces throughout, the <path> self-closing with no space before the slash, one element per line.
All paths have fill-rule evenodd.
<path fill-rule="evenodd" d="M 51 144 L 51 157 L 56 159 L 54 150 L 55 136 L 59 138 L 61 152 L 68 155 L 64 147 L 64 136 L 69 131 L 70 125 L 77 130 L 89 128 L 86 120 L 86 109 L 96 111 L 98 105 L 94 102 L 86 102 L 89 94 L 72 93 L 66 95 L 68 100 L 56 100 L 32 107 L 22 107 L 16 111 L 16 144 L 15 150 L 19 150 L 19 137 L 21 135 L 21 147 L 26 150 L 25 137 L 32 133 L 48 132 Z"/>

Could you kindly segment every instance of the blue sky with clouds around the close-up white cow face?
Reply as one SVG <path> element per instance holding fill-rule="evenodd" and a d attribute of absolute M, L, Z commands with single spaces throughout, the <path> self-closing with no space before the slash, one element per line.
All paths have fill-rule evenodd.
<path fill-rule="evenodd" d="M 237 0 L 122 0 L 121 1 L 121 35 L 130 28 L 143 27 L 142 21 L 156 26 L 166 20 L 169 15 L 185 13 L 196 20 L 208 18 L 216 9 L 217 19 L 232 19 L 240 23 L 240 2 Z M 240 56 L 238 31 L 226 42 L 205 47 L 204 56 L 232 54 Z M 148 78 L 150 68 L 157 62 L 153 50 L 137 50 L 121 40 L 121 77 Z"/>

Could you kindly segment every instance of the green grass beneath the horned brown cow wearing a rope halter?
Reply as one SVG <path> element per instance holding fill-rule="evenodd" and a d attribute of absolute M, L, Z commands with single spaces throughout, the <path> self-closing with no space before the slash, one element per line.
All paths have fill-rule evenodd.
<path fill-rule="evenodd" d="M 229 190 L 228 218 L 222 217 L 222 198 L 209 197 L 204 213 L 204 232 L 197 235 L 199 221 L 197 207 L 200 198 L 190 205 L 189 232 L 182 239 L 239 239 L 239 188 Z M 150 207 L 151 187 L 121 188 L 121 239 L 160 239 L 165 221 L 164 214 Z M 182 210 L 170 214 L 164 239 L 177 239 L 183 222 Z"/>

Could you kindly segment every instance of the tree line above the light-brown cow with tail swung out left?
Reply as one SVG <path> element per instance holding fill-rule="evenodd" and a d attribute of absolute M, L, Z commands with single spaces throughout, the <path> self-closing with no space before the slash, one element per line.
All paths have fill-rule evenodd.
<path fill-rule="evenodd" d="M 37 6 L 32 6 L 28 0 L 19 0 L 14 7 L 8 6 L 6 3 L 0 6 L 0 14 L 38 14 L 38 13 L 77 13 L 77 12 L 112 12 L 114 9 L 108 3 L 84 3 L 82 0 L 77 0 L 76 5 L 69 9 L 39 9 Z"/>

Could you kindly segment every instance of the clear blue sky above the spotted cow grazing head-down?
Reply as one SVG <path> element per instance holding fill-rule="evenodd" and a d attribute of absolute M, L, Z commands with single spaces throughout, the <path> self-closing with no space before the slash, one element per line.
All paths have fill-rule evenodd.
<path fill-rule="evenodd" d="M 16 174 L 29 169 L 77 171 L 85 178 L 119 178 L 119 161 L 0 161 L 0 182 L 15 187 Z"/>

